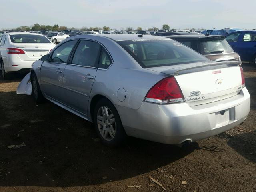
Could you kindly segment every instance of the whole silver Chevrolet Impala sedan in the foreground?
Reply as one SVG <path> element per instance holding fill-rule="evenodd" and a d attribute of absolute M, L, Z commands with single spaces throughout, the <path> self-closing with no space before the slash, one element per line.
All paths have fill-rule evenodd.
<path fill-rule="evenodd" d="M 31 78 L 31 84 L 30 84 Z M 126 136 L 183 144 L 224 132 L 247 117 L 240 62 L 213 62 L 159 36 L 80 35 L 34 62 L 17 94 L 48 99 L 94 122 L 100 140 Z"/>

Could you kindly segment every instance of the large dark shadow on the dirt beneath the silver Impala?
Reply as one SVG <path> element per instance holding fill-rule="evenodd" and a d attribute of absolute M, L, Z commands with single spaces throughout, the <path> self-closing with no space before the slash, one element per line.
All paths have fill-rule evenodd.
<path fill-rule="evenodd" d="M 12 98 L 11 100 L 8 98 Z M 0 186 L 84 186 L 124 180 L 162 168 L 190 154 L 128 138 L 119 148 L 99 142 L 93 124 L 31 96 L 1 92 Z M 16 150 L 7 146 L 20 145 Z"/>

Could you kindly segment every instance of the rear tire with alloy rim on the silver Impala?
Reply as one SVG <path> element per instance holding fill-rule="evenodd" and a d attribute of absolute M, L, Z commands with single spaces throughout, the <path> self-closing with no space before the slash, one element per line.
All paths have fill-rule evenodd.
<path fill-rule="evenodd" d="M 120 116 L 108 99 L 103 98 L 98 101 L 93 118 L 95 130 L 104 145 L 116 147 L 126 140 Z"/>

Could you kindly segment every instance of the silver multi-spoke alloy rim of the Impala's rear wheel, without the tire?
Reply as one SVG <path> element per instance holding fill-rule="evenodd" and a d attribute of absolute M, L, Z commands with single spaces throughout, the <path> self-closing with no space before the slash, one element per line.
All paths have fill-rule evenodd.
<path fill-rule="evenodd" d="M 98 130 L 106 141 L 113 140 L 116 134 L 116 121 L 112 111 L 106 107 L 102 106 L 97 112 L 97 125 Z"/>

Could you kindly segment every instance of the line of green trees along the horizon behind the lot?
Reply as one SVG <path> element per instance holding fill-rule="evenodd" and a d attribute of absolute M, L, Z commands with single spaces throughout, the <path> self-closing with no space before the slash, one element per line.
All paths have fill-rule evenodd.
<path fill-rule="evenodd" d="M 13 28 L 11 29 L 12 31 L 41 31 L 41 30 L 52 30 L 52 31 L 62 31 L 62 30 L 66 30 L 66 29 L 71 29 L 71 30 L 80 30 L 80 31 L 97 31 L 97 30 L 103 30 L 103 31 L 109 31 L 109 30 L 116 30 L 116 28 L 110 28 L 108 26 L 104 26 L 104 27 L 82 27 L 82 28 L 68 28 L 67 26 L 59 26 L 58 24 L 55 24 L 53 26 L 51 25 L 40 25 L 38 23 L 32 25 L 32 26 L 19 26 L 17 28 Z M 167 24 L 164 24 L 162 26 L 162 29 L 164 30 L 169 30 L 170 26 Z M 3 29 L 3 30 L 7 30 L 7 29 Z M 126 27 L 120 28 L 121 31 L 141 31 L 141 30 L 148 30 L 148 31 L 158 31 L 159 28 L 157 27 L 149 27 L 149 28 L 144 28 L 142 29 L 142 27 L 137 27 L 137 28 L 133 28 L 133 27 Z"/>

